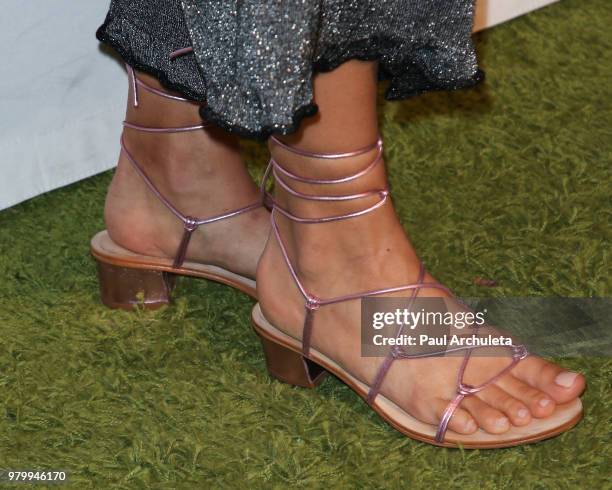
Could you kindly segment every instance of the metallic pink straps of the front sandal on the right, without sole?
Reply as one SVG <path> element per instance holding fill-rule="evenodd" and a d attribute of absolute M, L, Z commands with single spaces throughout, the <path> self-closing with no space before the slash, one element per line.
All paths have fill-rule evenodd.
<path fill-rule="evenodd" d="M 273 158 L 270 159 L 270 163 L 268 164 L 268 168 L 266 169 L 266 172 L 264 174 L 264 179 L 262 182 L 262 194 L 266 195 L 266 197 L 269 199 L 269 201 L 272 203 L 272 213 L 270 214 L 270 220 L 271 220 L 271 225 L 272 225 L 272 230 L 274 232 L 274 237 L 279 245 L 279 248 L 281 250 L 281 254 L 283 256 L 283 259 L 285 261 L 285 264 L 287 265 L 287 268 L 289 269 L 289 272 L 291 274 L 291 277 L 293 278 L 298 290 L 300 291 L 300 293 L 302 294 L 302 296 L 304 297 L 305 303 L 304 303 L 304 325 L 303 325 L 303 329 L 302 329 L 302 354 L 304 355 L 304 357 L 308 357 L 309 353 L 310 353 L 310 346 L 311 346 L 311 339 L 312 339 L 312 331 L 313 331 L 313 326 L 314 326 L 314 315 L 315 312 L 321 308 L 322 306 L 327 306 L 327 305 L 331 305 L 331 304 L 336 304 L 336 303 L 341 303 L 341 302 L 345 302 L 345 301 L 351 301 L 351 300 L 357 300 L 357 299 L 363 299 L 366 297 L 373 297 L 373 296 L 379 296 L 379 295 L 383 295 L 383 294 L 391 294 L 391 293 L 397 293 L 397 292 L 402 292 L 402 291 L 411 291 L 411 295 L 407 304 L 407 310 L 410 310 L 413 307 L 413 304 L 419 294 L 419 292 L 421 291 L 421 289 L 438 289 L 440 291 L 444 291 L 446 292 L 449 296 L 453 296 L 451 291 L 446 287 L 443 286 L 442 284 L 439 283 L 426 283 L 424 282 L 425 279 L 425 267 L 424 265 L 421 263 L 420 267 L 419 267 L 419 273 L 417 276 L 417 280 L 415 283 L 413 284 L 405 284 L 405 285 L 400 285 L 400 286 L 394 286 L 394 287 L 390 287 L 390 288 L 382 288 L 382 289 L 374 289 L 374 290 L 370 290 L 370 291 L 361 291 L 358 293 L 350 293 L 350 294 L 345 294 L 342 296 L 335 296 L 335 297 L 331 297 L 331 298 L 318 298 L 315 295 L 311 294 L 305 287 L 304 284 L 302 283 L 302 281 L 300 280 L 297 271 L 295 270 L 295 268 L 293 267 L 293 264 L 291 263 L 291 259 L 289 258 L 289 254 L 287 252 L 287 248 L 285 246 L 285 243 L 283 242 L 283 239 L 281 237 L 280 234 L 280 230 L 278 228 L 278 225 L 276 223 L 276 213 L 280 213 L 283 216 L 289 218 L 290 220 L 293 220 L 295 222 L 299 222 L 299 223 L 311 223 L 311 224 L 316 224 L 316 223 L 325 223 L 325 222 L 329 222 L 329 221 L 339 221 L 339 220 L 343 220 L 343 219 L 350 219 L 350 218 L 356 218 L 358 216 L 363 216 L 367 213 L 370 213 L 372 211 L 374 211 L 375 209 L 381 207 L 382 205 L 385 204 L 389 191 L 388 188 L 385 187 L 384 189 L 376 189 L 376 190 L 371 190 L 371 191 L 365 191 L 362 193 L 358 193 L 358 194 L 348 194 L 348 195 L 324 195 L 324 196 L 315 196 L 315 195 L 308 195 L 305 194 L 303 192 L 299 192 L 296 191 L 295 189 L 291 188 L 291 186 L 283 179 L 283 177 L 281 177 L 280 174 L 282 174 L 282 176 L 284 177 L 288 177 L 291 178 L 293 180 L 297 180 L 299 182 L 304 182 L 304 183 L 308 183 L 308 184 L 320 184 L 320 185 L 325 185 L 325 184 L 339 184 L 339 183 L 343 183 L 343 182 L 348 182 L 348 181 L 352 181 L 355 180 L 359 177 L 362 177 L 364 175 L 366 175 L 368 172 L 370 172 L 380 161 L 382 161 L 382 141 L 380 140 L 380 138 L 377 140 L 377 142 L 373 145 L 369 145 L 365 148 L 359 149 L 359 150 L 355 150 L 353 152 L 348 152 L 348 153 L 332 153 L 332 154 L 320 154 L 320 153 L 310 153 L 307 151 L 303 151 L 303 150 L 298 150 L 296 148 L 292 148 L 291 146 L 280 142 L 278 139 L 276 138 L 272 138 L 272 141 L 275 144 L 278 144 L 279 146 L 282 146 L 285 150 L 288 150 L 294 154 L 298 154 L 301 156 L 305 156 L 305 157 L 309 157 L 309 158 L 325 158 L 325 159 L 337 159 L 337 158 L 348 158 L 348 157 L 352 157 L 352 156 L 357 156 L 357 155 L 362 155 L 365 154 L 371 150 L 373 150 L 374 148 L 378 148 L 378 152 L 377 152 L 377 156 L 376 158 L 368 165 L 366 166 L 364 169 L 362 169 L 361 171 L 350 175 L 348 177 L 344 177 L 344 178 L 340 178 L 340 179 L 328 179 L 328 180 L 323 180 L 323 179 L 311 179 L 311 178 L 306 178 L 306 177 L 302 177 L 302 176 L 298 176 L 292 172 L 289 172 L 288 170 L 284 169 L 276 160 L 274 160 Z M 377 202 L 375 205 L 370 206 L 366 209 L 363 209 L 361 211 L 356 211 L 353 213 L 347 213 L 347 214 L 343 214 L 343 215 L 335 215 L 335 216 L 327 216 L 327 217 L 322 217 L 322 218 L 303 218 L 303 217 L 299 217 L 294 215 L 293 213 L 289 212 L 286 209 L 283 209 L 281 206 L 278 205 L 278 203 L 276 203 L 273 199 L 271 199 L 271 197 L 266 193 L 265 191 L 265 184 L 267 182 L 267 179 L 269 178 L 270 175 L 274 176 L 275 182 L 278 183 L 285 191 L 289 192 L 291 195 L 298 197 L 300 199 L 307 199 L 307 200 L 311 200 L 311 201 L 345 201 L 345 200 L 353 200 L 353 199 L 361 199 L 364 197 L 369 197 L 375 194 L 379 194 L 380 196 L 380 200 L 379 202 Z M 478 332 L 478 328 L 479 326 L 475 327 L 475 335 Z M 401 326 L 398 329 L 398 332 L 396 334 L 396 337 L 400 337 L 400 335 L 402 335 L 403 332 L 403 326 Z M 464 383 L 463 378 L 464 378 L 464 374 L 465 374 L 465 370 L 467 367 L 467 363 L 470 359 L 471 353 L 474 349 L 478 349 L 484 346 L 461 346 L 461 347 L 456 347 L 456 348 L 451 348 L 451 349 L 446 349 L 443 351 L 439 351 L 439 352 L 427 352 L 424 354 L 415 354 L 415 355 L 410 355 L 405 353 L 404 351 L 401 350 L 401 348 L 399 347 L 394 347 L 393 349 L 390 350 L 389 354 L 385 357 L 385 359 L 383 360 L 383 362 L 381 363 L 381 365 L 378 368 L 378 371 L 376 373 L 376 375 L 374 376 L 374 380 L 372 381 L 372 384 L 369 388 L 369 392 L 367 395 L 367 401 L 370 405 L 372 405 L 375 400 L 376 397 L 379 395 L 380 390 L 382 388 L 382 384 L 386 378 L 387 373 L 389 372 L 389 370 L 391 369 L 391 366 L 393 364 L 394 361 L 398 360 L 398 359 L 416 359 L 416 358 L 422 358 L 422 357 L 434 357 L 434 356 L 443 356 L 448 354 L 449 352 L 455 352 L 455 351 L 464 351 L 464 358 L 462 360 L 461 366 L 459 368 L 458 374 L 457 374 L 457 393 L 456 396 L 453 398 L 453 400 L 451 400 L 448 404 L 448 406 L 446 407 L 446 409 L 444 410 L 444 413 L 442 414 L 442 417 L 440 419 L 438 428 L 436 430 L 436 436 L 435 436 L 435 440 L 439 443 L 442 443 L 444 441 L 447 429 L 448 429 L 448 424 L 450 422 L 450 419 L 453 415 L 453 413 L 456 411 L 457 407 L 459 407 L 459 405 L 461 404 L 461 402 L 463 401 L 463 399 L 466 396 L 470 396 L 473 395 L 475 393 L 478 393 L 479 391 L 485 389 L 487 386 L 491 385 L 492 383 L 494 383 L 497 379 L 499 379 L 501 376 L 503 376 L 504 374 L 508 373 L 520 360 L 524 359 L 527 355 L 527 348 L 524 345 L 513 345 L 510 346 L 509 348 L 512 350 L 512 360 L 510 362 L 510 364 L 508 366 L 506 366 L 504 369 L 502 369 L 500 372 L 498 372 L 497 374 L 495 374 L 493 377 L 491 377 L 488 381 L 478 385 L 478 386 L 471 386 L 468 385 L 466 383 Z"/>

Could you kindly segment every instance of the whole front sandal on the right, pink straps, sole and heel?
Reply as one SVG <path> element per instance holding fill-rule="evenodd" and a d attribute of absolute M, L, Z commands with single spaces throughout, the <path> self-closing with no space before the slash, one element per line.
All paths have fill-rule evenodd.
<path fill-rule="evenodd" d="M 271 159 L 268 165 L 268 169 L 265 173 L 265 179 L 269 178 L 270 174 L 272 174 L 275 178 L 276 184 L 283 187 L 285 191 L 298 198 L 307 199 L 311 201 L 340 201 L 353 199 L 359 200 L 364 197 L 372 197 L 376 195 L 378 196 L 378 201 L 375 204 L 359 211 L 343 215 L 325 216 L 320 218 L 306 218 L 296 216 L 287 209 L 284 209 L 283 207 L 279 206 L 278 203 L 272 202 L 271 221 L 273 235 L 279 245 L 289 272 L 291 273 L 295 284 L 297 285 L 299 291 L 305 299 L 305 317 L 302 338 L 300 340 L 284 333 L 282 330 L 272 325 L 264 317 L 259 303 L 256 304 L 253 308 L 253 327 L 261 339 L 264 355 L 266 358 L 266 364 L 270 375 L 286 383 L 308 388 L 314 388 L 323 380 L 323 378 L 328 373 L 332 373 L 344 383 L 349 385 L 359 396 L 365 399 L 367 403 L 374 409 L 374 411 L 376 411 L 395 429 L 407 435 L 408 437 L 437 446 L 461 446 L 464 448 L 474 449 L 509 447 L 554 437 L 578 423 L 578 421 L 582 417 L 582 404 L 580 402 L 580 399 L 577 398 L 572 402 L 563 405 L 558 405 L 556 407 L 555 412 L 549 417 L 543 419 L 533 419 L 530 424 L 523 427 L 513 426 L 504 434 L 489 434 L 484 430 L 478 430 L 473 434 L 464 435 L 453 432 L 448 429 L 448 424 L 454 411 L 461 404 L 462 400 L 465 397 L 474 395 L 475 393 L 478 393 L 479 391 L 485 389 L 487 386 L 495 382 L 501 376 L 508 373 L 514 366 L 516 366 L 518 362 L 520 362 L 528 355 L 527 349 L 523 345 L 513 345 L 512 347 L 509 347 L 510 352 L 512 354 L 511 362 L 509 363 L 509 365 L 500 372 L 495 373 L 494 376 L 492 376 L 488 381 L 478 386 L 470 386 L 464 383 L 463 381 L 464 373 L 472 351 L 478 347 L 453 348 L 453 350 L 464 350 L 464 357 L 457 376 L 456 395 L 449 402 L 437 427 L 416 419 L 415 417 L 407 413 L 404 409 L 402 409 L 400 406 L 395 404 L 392 400 L 381 394 L 380 389 L 386 374 L 389 372 L 391 365 L 395 361 L 409 358 L 422 358 L 436 355 L 444 355 L 444 351 L 427 353 L 425 355 L 408 355 L 399 348 L 391 349 L 389 354 L 381 363 L 381 366 L 379 367 L 378 373 L 376 374 L 372 384 L 368 385 L 362 380 L 357 379 L 350 372 L 348 372 L 342 366 L 337 364 L 333 359 L 327 357 L 325 354 L 313 348 L 310 343 L 314 327 L 315 313 L 317 312 L 317 310 L 322 307 L 325 307 L 326 305 L 332 305 L 351 300 L 359 300 L 365 297 L 397 293 L 401 291 L 410 292 L 409 303 L 411 303 L 418 296 L 419 291 L 421 289 L 439 289 L 446 291 L 449 294 L 450 291 L 448 291 L 448 289 L 442 286 L 441 284 L 423 282 L 425 277 L 425 268 L 423 267 L 423 265 L 421 265 L 418 279 L 414 284 L 400 285 L 396 287 L 372 291 L 364 291 L 325 299 L 317 298 L 311 293 L 309 293 L 300 281 L 300 278 L 298 277 L 298 274 L 295 271 L 291 260 L 289 259 L 289 255 L 287 253 L 286 247 L 283 243 L 279 228 L 276 223 L 277 215 L 281 214 L 292 221 L 304 224 L 328 223 L 332 221 L 356 218 L 358 216 L 368 214 L 374 211 L 375 209 L 378 209 L 383 206 L 388 200 L 389 191 L 388 188 L 384 188 L 353 195 L 314 196 L 294 190 L 290 187 L 290 185 L 285 179 L 291 179 L 293 181 L 308 184 L 328 185 L 355 180 L 367 174 L 370 170 L 372 170 L 376 165 L 381 162 L 382 142 L 379 140 L 374 145 L 370 145 L 366 148 L 349 153 L 316 154 L 292 148 L 274 138 L 272 138 L 272 141 L 275 144 L 283 147 L 285 150 L 288 150 L 295 154 L 323 159 L 338 159 L 362 155 L 376 148 L 377 156 L 375 160 L 360 172 L 357 172 L 348 177 L 329 180 L 305 178 L 296 175 L 292 172 L 289 172 L 281 165 L 279 165 L 279 163 L 276 162 L 274 159 Z"/>

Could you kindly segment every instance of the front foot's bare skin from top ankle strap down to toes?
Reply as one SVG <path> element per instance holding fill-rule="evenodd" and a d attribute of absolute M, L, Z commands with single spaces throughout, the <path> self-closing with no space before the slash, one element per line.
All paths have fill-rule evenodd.
<path fill-rule="evenodd" d="M 275 148 L 273 155 L 294 173 L 314 178 L 329 178 L 328 162 L 288 154 Z M 369 159 L 369 160 L 368 160 Z M 340 175 L 351 175 L 371 161 L 350 158 L 334 162 Z M 289 162 L 289 163 L 287 163 Z M 292 165 L 293 163 L 293 165 Z M 333 189 L 297 182 L 284 176 L 301 193 L 346 195 L 381 189 L 386 185 L 384 167 L 355 182 L 336 184 Z M 300 199 L 276 186 L 275 198 L 284 209 L 298 216 L 346 214 L 366 208 L 378 197 L 358 201 L 313 202 Z M 280 236 L 289 260 L 305 289 L 318 298 L 333 298 L 349 293 L 370 291 L 416 281 L 419 259 L 397 219 L 393 206 L 384 206 L 369 214 L 324 224 L 303 224 L 275 214 Z M 424 282 L 436 282 L 427 275 Z M 265 318 L 295 339 L 302 338 L 304 296 L 294 278 L 274 235 L 271 235 L 260 260 L 257 288 Z M 407 292 L 386 296 L 406 297 Z M 446 297 L 440 289 L 423 288 L 419 297 Z M 342 366 L 362 382 L 372 385 L 382 358 L 361 356 L 360 304 L 346 301 L 321 306 L 313 316 L 311 345 L 317 352 Z M 384 378 L 380 393 L 413 417 L 438 424 L 457 388 L 461 357 L 407 359 L 395 362 Z M 473 356 L 465 382 L 477 385 L 489 380 L 508 366 L 509 358 Z M 470 434 L 479 427 L 491 434 L 501 434 L 513 425 L 527 425 L 532 418 L 546 418 L 557 404 L 570 402 L 585 386 L 581 374 L 536 356 L 520 361 L 511 372 L 501 376 L 481 392 L 466 397 L 451 418 L 449 428 Z"/>

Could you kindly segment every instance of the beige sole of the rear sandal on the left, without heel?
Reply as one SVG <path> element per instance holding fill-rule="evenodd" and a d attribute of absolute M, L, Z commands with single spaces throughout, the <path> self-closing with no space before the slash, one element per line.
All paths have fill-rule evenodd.
<path fill-rule="evenodd" d="M 257 299 L 255 281 L 216 265 L 185 261 L 181 267 L 172 267 L 172 259 L 140 255 L 117 245 L 106 230 L 91 239 L 91 254 L 105 264 L 128 269 L 167 272 L 181 276 L 199 277 L 236 288 Z"/>

